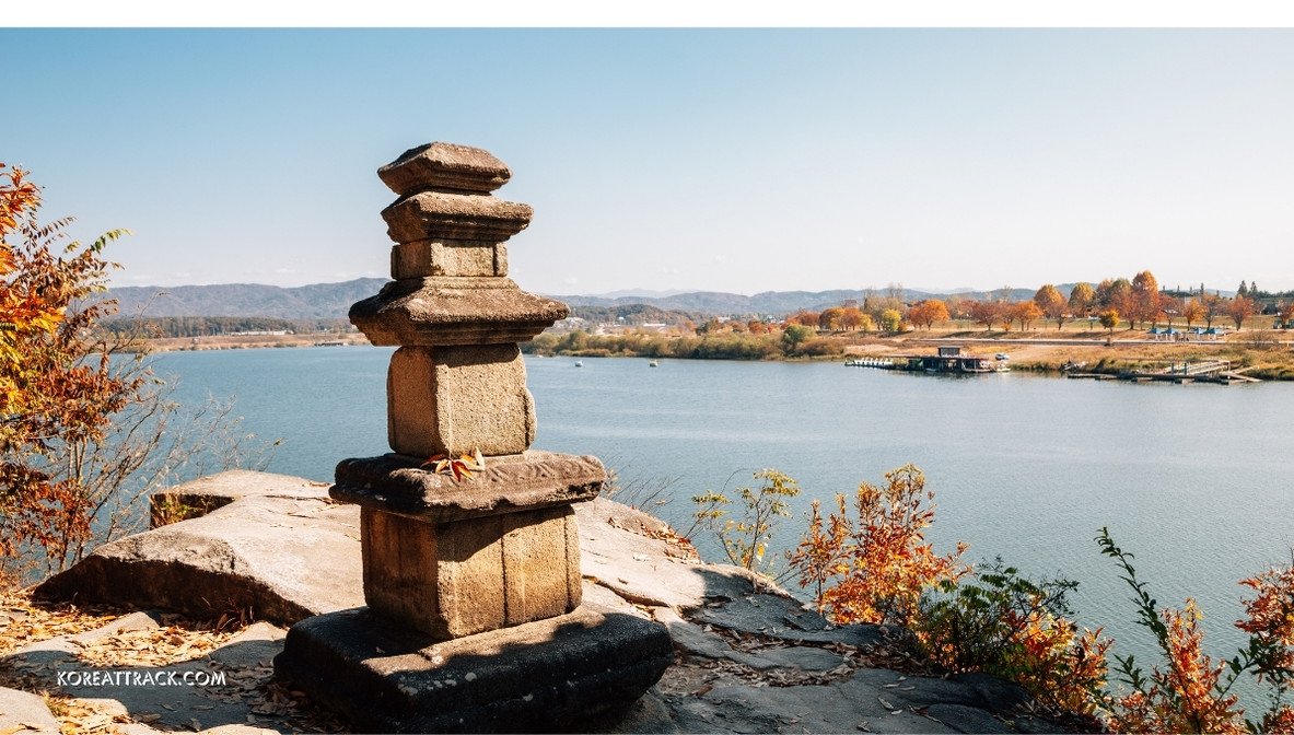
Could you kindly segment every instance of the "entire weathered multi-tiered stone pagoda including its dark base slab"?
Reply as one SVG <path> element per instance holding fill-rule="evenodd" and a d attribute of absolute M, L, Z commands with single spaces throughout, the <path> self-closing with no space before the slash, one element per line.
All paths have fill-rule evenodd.
<path fill-rule="evenodd" d="M 476 148 L 423 145 L 378 176 L 397 197 L 382 211 L 395 281 L 351 321 L 399 346 L 392 453 L 342 461 L 330 490 L 361 507 L 367 607 L 292 626 L 276 672 L 367 731 L 615 718 L 673 650 L 660 625 L 581 607 L 571 505 L 598 494 L 602 463 L 529 449 L 518 343 L 568 313 L 507 278 L 506 242 L 532 210 L 493 197 L 511 172 Z"/>

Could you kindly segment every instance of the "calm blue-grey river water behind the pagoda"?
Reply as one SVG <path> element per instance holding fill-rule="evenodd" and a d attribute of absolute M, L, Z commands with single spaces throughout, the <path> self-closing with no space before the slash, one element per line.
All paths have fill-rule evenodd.
<path fill-rule="evenodd" d="M 345 457 L 387 452 L 388 348 L 180 352 L 159 356 L 182 400 L 237 397 L 270 471 L 330 480 Z M 527 358 L 536 448 L 597 454 L 622 484 L 668 483 L 655 512 L 687 528 L 688 498 L 776 467 L 800 480 L 793 545 L 810 498 L 853 492 L 912 462 L 936 490 L 930 537 L 973 559 L 1003 556 L 1080 581 L 1084 622 L 1117 651 L 1153 659 L 1102 525 L 1136 554 L 1161 604 L 1200 602 L 1207 647 L 1232 653 L 1236 581 L 1288 563 L 1294 545 L 1294 386 L 1174 386 L 1022 374 L 937 378 L 839 364 Z M 697 540 L 703 554 L 717 547 Z M 1141 639 L 1143 644 L 1134 644 Z"/>

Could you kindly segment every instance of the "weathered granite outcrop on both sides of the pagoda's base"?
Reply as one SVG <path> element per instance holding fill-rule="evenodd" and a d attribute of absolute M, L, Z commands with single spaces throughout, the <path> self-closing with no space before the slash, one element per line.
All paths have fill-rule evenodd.
<path fill-rule="evenodd" d="M 268 488 L 258 496 L 255 488 Z M 203 492 L 219 493 L 228 488 L 230 502 L 211 515 L 186 520 L 158 531 L 132 537 L 135 556 L 113 551 L 98 562 L 83 562 L 96 573 L 113 578 L 128 575 L 146 577 L 135 590 L 148 595 L 133 599 L 136 607 L 186 609 L 193 595 L 192 582 L 176 569 L 204 569 L 221 576 L 229 589 L 243 587 L 282 590 L 283 599 L 295 599 L 298 615 L 342 611 L 362 604 L 358 568 L 338 568 L 338 556 L 357 559 L 356 533 L 358 509 L 330 506 L 321 497 L 283 497 L 300 490 L 308 494 L 311 484 L 264 474 L 225 474 L 203 480 Z M 295 490 L 294 490 L 295 488 Z M 290 490 L 286 492 L 285 490 Z M 318 488 L 320 493 L 322 488 Z M 176 492 L 192 493 L 181 487 Z M 317 505 L 292 505 L 292 503 Z M 947 679 L 905 675 L 883 668 L 885 657 L 877 651 L 885 646 L 886 631 L 876 626 L 833 628 L 811 611 L 802 609 L 784 591 L 756 587 L 743 569 L 696 563 L 685 549 L 672 543 L 666 527 L 650 515 L 603 498 L 575 506 L 578 514 L 580 546 L 584 555 L 584 600 L 590 609 L 617 619 L 655 620 L 664 624 L 674 650 L 672 665 L 660 682 L 617 721 L 600 721 L 589 730 L 607 732 L 1047 732 L 1057 731 L 1052 722 L 1024 713 L 1027 701 L 1024 691 L 992 677 L 964 675 Z M 216 518 L 224 514 L 224 520 Z M 219 527 L 212 527 L 215 521 Z M 206 523 L 203 523 L 206 521 Z M 217 528 L 246 525 L 245 534 L 258 532 L 265 543 L 238 542 L 239 567 L 219 573 L 194 555 L 176 558 L 173 550 L 190 541 L 206 543 Z M 329 529 L 329 533 L 324 533 Z M 296 567 L 295 586 L 283 581 L 287 569 L 272 564 L 280 554 L 278 545 L 291 543 L 298 534 L 330 540 L 303 558 Z M 141 537 L 157 541 L 141 542 Z M 164 540 L 164 542 L 163 542 Z M 131 541 L 131 540 L 127 540 Z M 158 554 L 160 560 L 149 556 Z M 229 559 L 230 556 L 225 556 Z M 357 567 L 357 565 L 356 565 Z M 263 569 L 276 569 L 274 581 L 260 578 Z M 75 572 L 75 568 L 74 568 Z M 84 571 L 67 577 L 67 582 L 48 587 L 62 590 L 72 578 L 88 581 Z M 106 593 L 91 584 L 92 591 Z M 347 589 L 349 597 L 336 595 Z M 91 595 L 82 594 L 80 599 Z M 118 595 L 101 599 L 116 599 Z M 320 609 L 304 613 L 300 600 Z M 581 608 L 584 609 L 584 608 Z M 356 613 L 343 613 L 356 615 Z M 298 619 L 300 619 L 298 617 Z M 290 616 L 282 622 L 292 622 Z M 114 625 L 150 625 L 148 616 L 132 616 Z M 215 666 L 217 661 L 245 664 L 267 663 L 282 650 L 283 630 L 259 624 L 214 652 L 207 660 L 192 665 Z M 84 635 L 84 634 L 83 634 Z M 69 661 L 78 644 L 56 639 L 14 656 L 44 656 Z M 13 665 L 9 656 L 0 665 Z M 30 660 L 30 659 L 28 659 Z M 479 674 L 477 674 L 479 675 Z M 465 677 L 466 679 L 466 672 Z M 160 714 L 163 729 L 189 727 L 197 718 L 202 729 L 220 732 L 250 731 L 246 716 L 252 714 L 258 727 L 290 731 L 292 726 L 273 718 L 255 716 L 247 704 L 186 699 L 199 695 L 221 699 L 221 691 L 180 691 L 171 687 L 135 687 L 132 691 L 74 692 L 78 696 L 107 696 L 120 703 L 126 714 Z M 419 694 L 410 695 L 414 699 Z M 133 699 L 132 699 L 133 697 Z M 170 697 L 170 699 L 167 699 Z M 234 699 L 234 697 L 224 697 Z M 201 704 L 198 704 L 201 701 Z M 163 705 L 175 709 L 168 709 Z M 229 708 L 226 708 L 226 705 Z M 197 709 L 198 707 L 207 709 Z M 243 709 L 238 709 L 242 707 Z M 3 708 L 0 708 L 3 709 Z M 172 722 L 173 721 L 173 722 Z M 219 727 L 216 727 L 219 726 Z M 428 721 L 427 726 L 432 726 Z M 129 732 L 150 735 L 145 725 L 127 725 Z M 439 727 L 439 725 L 437 725 Z M 445 729 L 453 729 L 452 723 Z M 203 730 L 210 731 L 210 730 Z"/>

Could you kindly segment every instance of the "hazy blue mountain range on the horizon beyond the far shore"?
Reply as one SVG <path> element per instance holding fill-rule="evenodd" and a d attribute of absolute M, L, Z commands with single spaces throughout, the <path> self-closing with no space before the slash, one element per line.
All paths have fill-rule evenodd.
<path fill-rule="evenodd" d="M 259 283 L 223 283 L 216 286 L 123 286 L 110 289 L 106 298 L 116 299 L 120 317 L 276 317 L 286 320 L 344 318 L 351 304 L 371 296 L 386 278 L 356 278 L 342 283 L 312 283 L 285 289 Z M 1069 285 L 1058 286 L 1069 292 Z M 554 295 L 572 308 L 621 308 L 635 304 L 661 311 L 709 316 L 784 316 L 800 309 L 839 307 L 854 299 L 859 304 L 868 294 L 885 295 L 885 290 L 833 291 L 765 291 L 745 296 L 719 291 L 625 291 L 599 296 Z M 659 294 L 659 295 L 648 295 Z M 903 299 L 916 302 L 947 296 L 927 291 L 905 290 Z M 1003 290 L 964 291 L 964 299 L 999 298 Z M 1033 298 L 1031 289 L 1012 289 L 1011 299 Z"/>

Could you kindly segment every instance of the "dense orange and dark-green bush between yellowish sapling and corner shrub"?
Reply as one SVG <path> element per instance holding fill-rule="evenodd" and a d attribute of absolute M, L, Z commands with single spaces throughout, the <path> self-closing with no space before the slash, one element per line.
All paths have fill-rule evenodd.
<path fill-rule="evenodd" d="M 801 587 L 835 622 L 881 622 L 912 630 L 927 659 L 952 673 L 1009 678 L 1040 700 L 1091 713 L 1105 683 L 1100 631 L 1069 620 L 1073 582 L 1033 582 L 999 565 L 972 573 L 967 546 L 937 555 L 925 541 L 933 490 L 912 465 L 859 485 L 853 507 L 836 496 L 826 519 L 815 501 L 807 533 L 791 554 Z"/>

